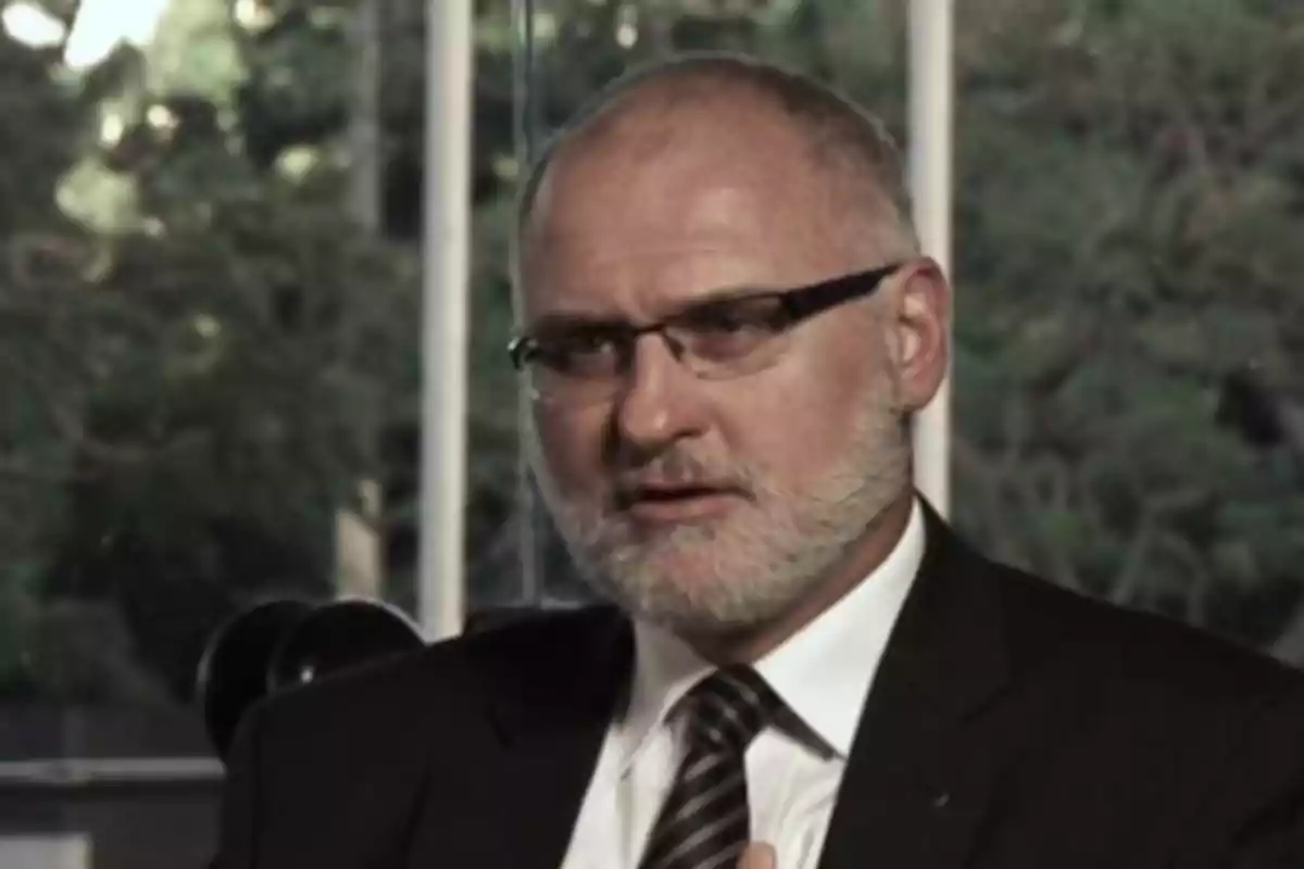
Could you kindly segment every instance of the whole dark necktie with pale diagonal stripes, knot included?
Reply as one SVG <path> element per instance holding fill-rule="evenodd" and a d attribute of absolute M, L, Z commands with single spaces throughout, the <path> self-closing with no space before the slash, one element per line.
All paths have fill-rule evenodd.
<path fill-rule="evenodd" d="M 751 836 L 743 753 L 782 701 L 755 670 L 717 670 L 689 692 L 687 752 L 639 869 L 733 869 Z"/>

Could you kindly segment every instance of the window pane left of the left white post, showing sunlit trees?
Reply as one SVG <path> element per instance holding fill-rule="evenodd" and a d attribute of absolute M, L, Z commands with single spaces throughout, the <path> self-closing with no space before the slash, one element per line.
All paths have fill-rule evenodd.
<path fill-rule="evenodd" d="M 7 869 L 206 865 L 214 632 L 412 605 L 424 7 L 0 3 Z"/>

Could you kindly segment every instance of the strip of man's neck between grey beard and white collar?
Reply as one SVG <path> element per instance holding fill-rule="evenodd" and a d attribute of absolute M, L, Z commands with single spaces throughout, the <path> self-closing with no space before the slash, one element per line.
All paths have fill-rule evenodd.
<path fill-rule="evenodd" d="M 692 646 L 694 651 L 717 666 L 739 662 L 754 663 L 764 658 L 841 601 L 848 591 L 865 581 L 887 560 L 905 533 L 913 508 L 914 489 L 906 487 L 875 517 L 865 535 L 850 547 L 848 556 L 828 572 L 815 591 L 802 598 L 795 607 L 778 619 L 739 634 L 685 637 L 685 641 Z"/>

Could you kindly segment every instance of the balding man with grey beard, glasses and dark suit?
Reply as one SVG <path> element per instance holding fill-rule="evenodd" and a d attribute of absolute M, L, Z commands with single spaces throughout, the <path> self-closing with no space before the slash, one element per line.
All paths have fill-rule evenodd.
<path fill-rule="evenodd" d="M 617 607 L 258 709 L 222 869 L 1304 866 L 1296 674 L 913 491 L 949 289 L 908 214 L 880 124 L 763 64 L 583 113 L 523 199 L 512 360 Z"/>

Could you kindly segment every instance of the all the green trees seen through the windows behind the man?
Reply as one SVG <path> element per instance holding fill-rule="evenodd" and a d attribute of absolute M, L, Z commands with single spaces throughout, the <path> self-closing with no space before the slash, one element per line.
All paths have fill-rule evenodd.
<path fill-rule="evenodd" d="M 1304 9 L 957 5 L 958 522 L 1304 661 Z M 80 74 L 0 39 L 0 693 L 184 697 L 232 608 L 330 593 L 364 477 L 411 602 L 425 7 L 386 4 L 379 233 L 344 206 L 352 4 L 262 3 L 245 27 L 175 3 Z M 520 53 L 511 4 L 477 4 L 476 603 L 520 595 L 527 522 L 544 594 L 576 591 L 519 500 L 526 151 L 630 64 L 705 47 L 807 69 L 906 134 L 900 0 L 537 8 Z"/>

